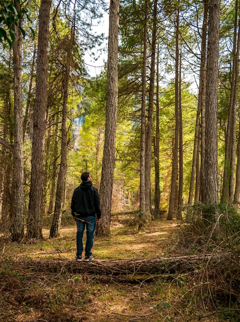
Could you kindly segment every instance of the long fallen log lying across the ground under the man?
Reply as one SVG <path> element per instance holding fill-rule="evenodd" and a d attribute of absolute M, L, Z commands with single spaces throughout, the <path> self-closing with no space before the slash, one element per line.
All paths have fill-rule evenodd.
<path fill-rule="evenodd" d="M 226 256 L 226 255 L 225 255 Z M 116 259 L 76 262 L 75 260 L 34 260 L 29 263 L 32 270 L 51 272 L 88 273 L 95 275 L 133 276 L 153 274 L 175 274 L 194 272 L 206 265 L 224 262 L 223 256 L 181 256 L 150 259 Z M 25 265 L 27 263 L 25 262 Z"/>

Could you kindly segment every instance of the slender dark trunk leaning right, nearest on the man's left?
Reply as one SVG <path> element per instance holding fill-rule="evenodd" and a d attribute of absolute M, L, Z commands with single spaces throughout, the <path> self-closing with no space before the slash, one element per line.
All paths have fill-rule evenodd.
<path fill-rule="evenodd" d="M 67 115 L 68 115 L 68 87 L 70 78 L 70 63 L 72 59 L 72 48 L 74 41 L 74 33 L 71 32 L 71 39 L 67 44 L 67 61 L 64 70 L 64 81 L 63 81 L 63 112 L 62 112 L 62 144 L 61 144 L 61 162 L 58 172 L 57 186 L 56 186 L 56 199 L 55 209 L 53 214 L 52 225 L 50 228 L 49 238 L 59 237 L 60 225 L 62 220 L 62 204 L 64 199 L 64 183 L 67 172 L 67 148 L 68 148 L 68 137 L 67 137 Z"/>

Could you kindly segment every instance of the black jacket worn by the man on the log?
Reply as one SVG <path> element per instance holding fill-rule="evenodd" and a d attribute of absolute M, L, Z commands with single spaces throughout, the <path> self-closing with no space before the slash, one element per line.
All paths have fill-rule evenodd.
<path fill-rule="evenodd" d="M 101 218 L 100 199 L 97 188 L 93 187 L 91 181 L 83 181 L 72 195 L 72 216 L 76 218 L 86 216 L 97 216 Z"/>

